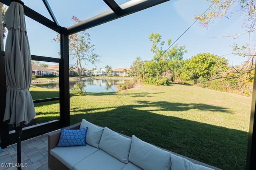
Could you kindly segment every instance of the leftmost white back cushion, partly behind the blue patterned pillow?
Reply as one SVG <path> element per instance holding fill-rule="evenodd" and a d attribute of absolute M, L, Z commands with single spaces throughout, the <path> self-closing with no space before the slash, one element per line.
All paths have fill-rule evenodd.
<path fill-rule="evenodd" d="M 93 147 L 99 148 L 100 138 L 103 132 L 103 127 L 98 127 L 85 119 L 82 119 L 80 129 L 88 127 L 85 142 Z"/>

